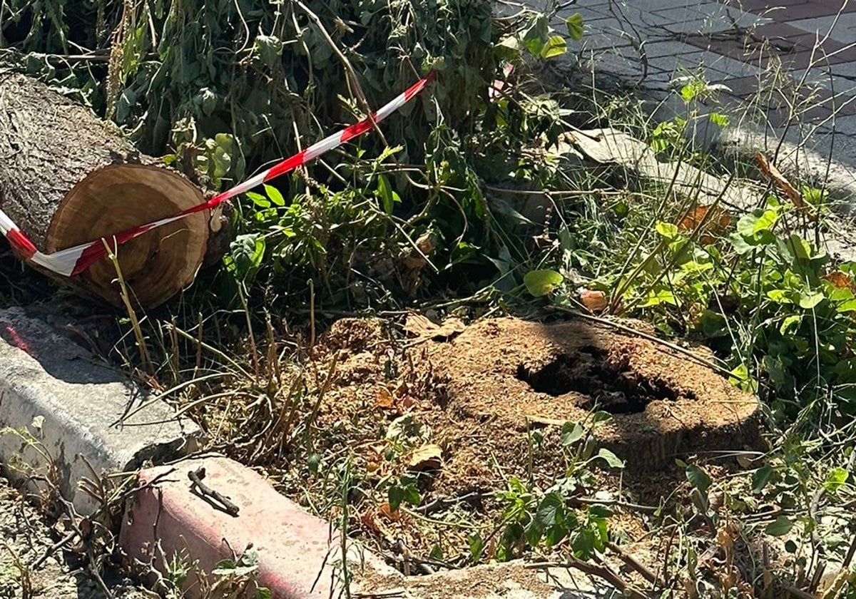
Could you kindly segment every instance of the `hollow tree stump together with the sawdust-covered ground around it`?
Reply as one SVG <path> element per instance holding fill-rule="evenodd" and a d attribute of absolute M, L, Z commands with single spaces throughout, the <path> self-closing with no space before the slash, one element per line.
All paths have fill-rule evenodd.
<path fill-rule="evenodd" d="M 594 410 L 611 412 L 597 441 L 627 469 L 599 471 L 589 496 L 615 498 L 622 486 L 657 506 L 686 486 L 676 457 L 758 445 L 752 395 L 684 353 L 584 321 L 498 318 L 402 341 L 383 321 L 343 319 L 318 352 L 316 363 L 336 362 L 318 407 L 326 454 L 347 454 L 360 473 L 365 501 L 351 525 L 391 554 L 454 560 L 468 531 L 495 538 L 493 494 L 511 477 L 546 489 L 564 476 L 561 426 Z M 404 474 L 419 475 L 419 505 L 390 513 L 377 489 Z M 321 490 L 313 484 L 301 483 L 304 501 Z M 629 542 L 646 536 L 639 514 L 614 519 Z"/>

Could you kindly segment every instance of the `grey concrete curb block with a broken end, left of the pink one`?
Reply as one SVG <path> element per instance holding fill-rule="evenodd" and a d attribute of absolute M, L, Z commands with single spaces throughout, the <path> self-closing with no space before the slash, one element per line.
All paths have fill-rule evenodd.
<path fill-rule="evenodd" d="M 38 473 L 91 511 L 78 489 L 90 466 L 131 471 L 198 448 L 199 427 L 153 399 L 21 308 L 0 310 L 0 460 L 11 477 Z"/>

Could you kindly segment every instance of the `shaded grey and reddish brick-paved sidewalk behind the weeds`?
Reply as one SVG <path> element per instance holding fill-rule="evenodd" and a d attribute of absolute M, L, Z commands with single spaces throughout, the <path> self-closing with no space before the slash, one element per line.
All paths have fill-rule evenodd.
<path fill-rule="evenodd" d="M 543 10 L 549 0 L 525 3 Z M 582 68 L 637 84 L 657 100 L 693 73 L 722 84 L 727 90 L 719 101 L 733 116 L 732 128 L 752 129 L 755 141 L 774 145 L 784 132 L 797 148 L 792 164 L 811 162 L 795 170 L 823 178 L 823 157 L 834 158 L 835 184 L 847 190 L 844 204 L 853 211 L 856 0 L 566 0 L 561 6 L 557 31 L 565 32 L 569 15 L 583 17 L 584 38 L 568 40 L 568 54 Z M 669 110 L 684 110 L 675 93 L 670 100 L 666 118 Z"/>

